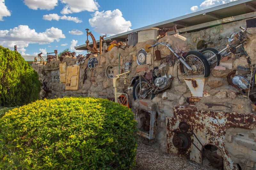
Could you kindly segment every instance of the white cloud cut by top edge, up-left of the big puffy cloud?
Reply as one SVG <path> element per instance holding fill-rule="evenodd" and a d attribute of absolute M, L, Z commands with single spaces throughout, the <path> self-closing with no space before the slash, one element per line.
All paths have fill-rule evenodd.
<path fill-rule="evenodd" d="M 99 4 L 93 0 L 60 0 L 63 4 L 67 4 L 62 11 L 61 14 L 71 14 L 75 12 L 81 11 L 97 11 Z"/>

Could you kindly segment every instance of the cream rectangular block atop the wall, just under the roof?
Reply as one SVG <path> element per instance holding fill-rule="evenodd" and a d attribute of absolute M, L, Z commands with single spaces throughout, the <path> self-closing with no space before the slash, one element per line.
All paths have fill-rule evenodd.
<path fill-rule="evenodd" d="M 149 28 L 138 32 L 138 42 L 144 42 L 147 40 L 155 40 L 158 36 L 158 30 L 156 28 Z"/>

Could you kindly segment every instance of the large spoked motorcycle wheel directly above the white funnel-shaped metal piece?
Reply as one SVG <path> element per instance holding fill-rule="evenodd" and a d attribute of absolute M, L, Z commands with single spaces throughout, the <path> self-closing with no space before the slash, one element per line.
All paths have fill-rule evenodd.
<path fill-rule="evenodd" d="M 202 53 L 189 51 L 184 58 L 185 62 L 194 69 L 194 71 L 190 71 L 183 65 L 184 71 L 188 76 L 208 77 L 210 75 L 210 65 Z"/>

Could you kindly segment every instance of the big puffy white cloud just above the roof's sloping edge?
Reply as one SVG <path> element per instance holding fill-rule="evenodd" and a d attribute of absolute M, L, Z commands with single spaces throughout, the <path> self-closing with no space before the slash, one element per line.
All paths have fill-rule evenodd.
<path fill-rule="evenodd" d="M 118 9 L 106 12 L 96 11 L 93 17 L 89 19 L 89 23 L 97 33 L 106 33 L 110 36 L 132 30 L 130 28 L 132 26 L 131 22 L 126 21 L 122 12 Z"/>

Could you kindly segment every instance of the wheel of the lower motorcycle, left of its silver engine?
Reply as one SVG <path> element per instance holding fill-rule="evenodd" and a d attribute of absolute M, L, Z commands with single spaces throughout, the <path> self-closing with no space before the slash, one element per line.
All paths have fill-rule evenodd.
<path fill-rule="evenodd" d="M 155 97 L 155 94 L 152 94 L 152 91 L 151 91 L 153 89 L 144 78 L 141 78 L 141 90 L 143 91 L 146 88 L 149 88 L 149 89 L 147 91 L 143 92 L 142 94 L 139 94 L 140 93 L 140 80 L 138 79 L 132 88 L 133 99 L 134 100 L 137 100 L 137 99 L 152 100 Z M 151 94 L 148 94 L 149 92 Z"/>

